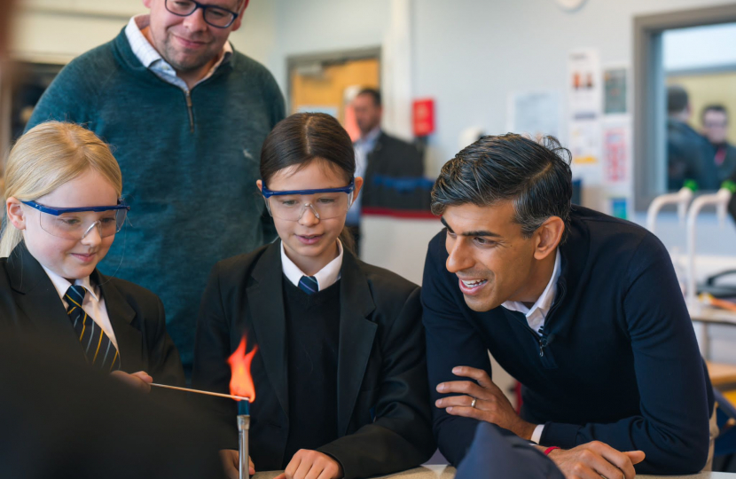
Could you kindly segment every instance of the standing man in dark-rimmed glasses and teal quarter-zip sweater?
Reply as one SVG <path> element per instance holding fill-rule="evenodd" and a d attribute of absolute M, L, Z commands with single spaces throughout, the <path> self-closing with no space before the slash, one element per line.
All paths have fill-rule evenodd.
<path fill-rule="evenodd" d="M 254 191 L 263 139 L 284 118 L 270 72 L 228 37 L 248 0 L 143 0 L 113 41 L 65 67 L 27 129 L 82 123 L 114 147 L 136 212 L 101 269 L 161 296 L 184 368 L 207 271 L 270 240 Z"/>

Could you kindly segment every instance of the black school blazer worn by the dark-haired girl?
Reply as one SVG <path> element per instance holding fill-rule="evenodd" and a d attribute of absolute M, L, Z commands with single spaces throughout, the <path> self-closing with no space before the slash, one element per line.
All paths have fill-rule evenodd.
<path fill-rule="evenodd" d="M 257 345 L 252 367 L 250 456 L 256 470 L 279 469 L 289 432 L 286 316 L 280 242 L 217 263 L 202 298 L 193 381 L 229 391 L 227 358 L 243 334 Z M 435 452 L 419 287 L 345 250 L 340 281 L 338 436 L 318 449 L 346 479 L 417 467 Z M 216 404 L 216 405 L 215 405 Z M 237 449 L 237 403 L 210 400 Z M 286 458 L 290 459 L 290 458 Z"/>

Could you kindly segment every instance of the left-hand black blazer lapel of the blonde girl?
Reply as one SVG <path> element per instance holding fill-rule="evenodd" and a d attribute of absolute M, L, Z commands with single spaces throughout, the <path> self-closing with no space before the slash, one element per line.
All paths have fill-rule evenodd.
<path fill-rule="evenodd" d="M 12 250 L 7 263 L 15 302 L 38 334 L 51 338 L 59 352 L 84 360 L 79 338 L 69 321 L 64 303 L 59 298 L 49 275 L 41 263 L 20 243 Z M 25 329 L 26 325 L 19 325 Z"/>

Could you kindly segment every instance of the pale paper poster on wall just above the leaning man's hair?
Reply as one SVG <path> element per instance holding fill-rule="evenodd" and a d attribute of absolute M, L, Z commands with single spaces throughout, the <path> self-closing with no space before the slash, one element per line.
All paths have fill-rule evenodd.
<path fill-rule="evenodd" d="M 543 137 L 560 137 L 560 92 L 557 90 L 516 91 L 507 100 L 506 130 Z"/>

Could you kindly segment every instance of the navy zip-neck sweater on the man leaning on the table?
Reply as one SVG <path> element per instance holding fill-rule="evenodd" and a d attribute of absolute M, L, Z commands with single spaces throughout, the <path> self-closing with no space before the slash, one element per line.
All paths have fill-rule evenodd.
<path fill-rule="evenodd" d="M 645 229 L 574 207 L 560 246 L 558 292 L 541 338 L 521 312 L 467 307 L 445 269 L 445 234 L 429 244 L 422 286 L 427 368 L 435 387 L 454 366 L 490 373 L 488 351 L 523 384 L 521 417 L 544 424 L 540 443 L 599 440 L 641 450 L 641 474 L 705 466 L 713 397 L 669 254 Z M 476 420 L 433 406 L 437 443 L 457 465 Z"/>

